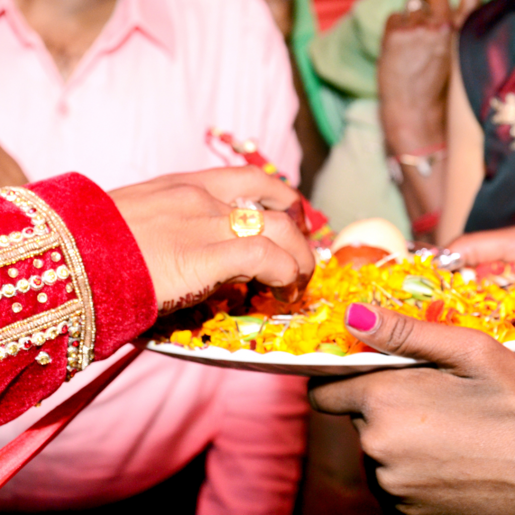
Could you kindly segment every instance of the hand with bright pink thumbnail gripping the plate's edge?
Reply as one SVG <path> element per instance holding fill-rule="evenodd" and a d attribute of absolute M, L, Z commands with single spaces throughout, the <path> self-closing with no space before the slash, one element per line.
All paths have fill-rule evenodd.
<path fill-rule="evenodd" d="M 438 366 L 311 383 L 316 409 L 354 415 L 392 505 L 409 514 L 512 514 L 515 354 L 484 333 L 375 306 L 352 304 L 346 317 L 371 347 Z"/>

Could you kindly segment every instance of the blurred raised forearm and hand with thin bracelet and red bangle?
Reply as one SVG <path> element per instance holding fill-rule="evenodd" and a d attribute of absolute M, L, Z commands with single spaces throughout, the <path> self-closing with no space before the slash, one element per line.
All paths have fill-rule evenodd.
<path fill-rule="evenodd" d="M 420 226 L 432 241 L 453 159 L 451 140 L 464 134 L 451 129 L 447 111 L 455 112 L 456 104 L 449 98 L 453 32 L 478 5 L 463 0 L 453 9 L 447 0 L 411 0 L 407 12 L 390 16 L 382 42 L 377 77 L 388 165 L 414 232 Z"/>

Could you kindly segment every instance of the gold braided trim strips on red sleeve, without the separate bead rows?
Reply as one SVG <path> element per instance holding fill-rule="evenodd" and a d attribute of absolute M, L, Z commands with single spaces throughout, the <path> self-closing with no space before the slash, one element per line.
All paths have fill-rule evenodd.
<path fill-rule="evenodd" d="M 5 338 L 9 341 L 20 339 L 35 332 L 33 328 L 37 327 L 41 330 L 70 317 L 78 317 L 81 326 L 79 345 L 76 349 L 68 348 L 68 363 L 71 361 L 69 354 L 73 352 L 76 355 L 73 358 L 73 368 L 83 370 L 94 357 L 95 311 L 88 276 L 75 239 L 68 231 L 62 218 L 32 191 L 23 187 L 5 187 L 0 189 L 0 196 L 25 211 L 25 214 L 27 214 L 29 207 L 36 208 L 39 214 L 32 217 L 32 224 L 37 225 L 39 229 L 44 229 L 46 226 L 49 229 L 48 234 L 38 235 L 14 246 L 1 249 L 0 266 L 27 259 L 59 246 L 62 249 L 66 266 L 70 270 L 77 295 L 77 299 L 68 301 L 54 310 L 40 313 L 1 329 L 0 341 Z M 27 216 L 30 217 L 29 214 Z M 70 371 L 70 367 L 68 367 L 68 371 Z"/>

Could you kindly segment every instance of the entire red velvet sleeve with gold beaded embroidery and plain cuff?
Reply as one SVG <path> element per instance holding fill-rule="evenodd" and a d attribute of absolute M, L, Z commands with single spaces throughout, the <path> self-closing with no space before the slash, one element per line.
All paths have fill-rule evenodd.
<path fill-rule="evenodd" d="M 0 423 L 156 316 L 138 245 L 96 184 L 67 174 L 0 189 Z"/>

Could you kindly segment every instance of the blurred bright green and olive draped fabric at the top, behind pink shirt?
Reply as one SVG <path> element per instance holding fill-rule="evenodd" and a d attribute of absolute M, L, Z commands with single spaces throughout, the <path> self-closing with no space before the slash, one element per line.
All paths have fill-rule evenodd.
<path fill-rule="evenodd" d="M 295 0 L 291 46 L 320 133 L 335 145 L 355 98 L 376 98 L 375 63 L 386 20 L 406 0 L 358 0 L 327 33 L 318 34 L 312 0 Z M 451 0 L 457 6 L 459 0 Z"/>

